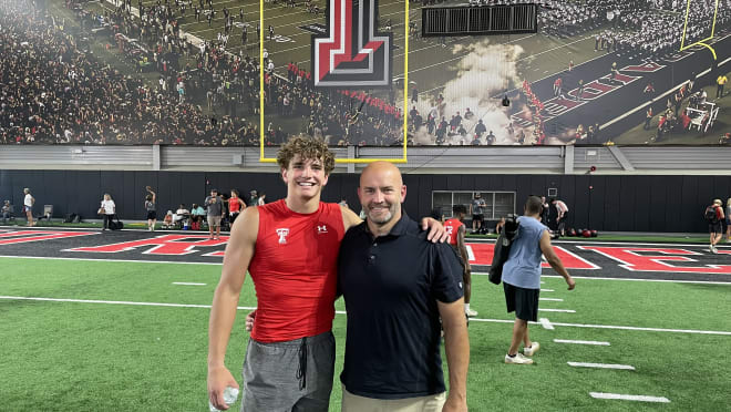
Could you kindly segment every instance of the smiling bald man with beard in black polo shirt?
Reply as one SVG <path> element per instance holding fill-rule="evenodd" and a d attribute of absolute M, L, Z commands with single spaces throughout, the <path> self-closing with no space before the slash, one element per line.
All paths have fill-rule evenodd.
<path fill-rule="evenodd" d="M 466 411 L 470 342 L 456 254 L 424 241 L 402 214 L 406 186 L 392 164 L 369 165 L 358 196 L 367 219 L 348 230 L 338 260 L 348 312 L 342 411 Z"/>

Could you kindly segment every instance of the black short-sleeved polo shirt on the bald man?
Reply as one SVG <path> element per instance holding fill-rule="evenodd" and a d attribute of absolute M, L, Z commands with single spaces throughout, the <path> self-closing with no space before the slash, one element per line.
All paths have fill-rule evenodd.
<path fill-rule="evenodd" d="M 367 223 L 340 244 L 339 288 L 348 311 L 340 381 L 353 394 L 405 399 L 444 392 L 436 301 L 462 297 L 462 266 L 405 214 L 373 238 Z"/>

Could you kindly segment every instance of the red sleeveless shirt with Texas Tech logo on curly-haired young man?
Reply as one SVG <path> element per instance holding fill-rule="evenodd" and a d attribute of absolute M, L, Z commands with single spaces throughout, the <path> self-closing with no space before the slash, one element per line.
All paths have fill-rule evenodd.
<path fill-rule="evenodd" d="M 259 231 L 249 265 L 257 295 L 251 337 L 282 342 L 332 329 L 342 212 L 322 203 L 299 214 L 284 199 L 258 207 Z"/>

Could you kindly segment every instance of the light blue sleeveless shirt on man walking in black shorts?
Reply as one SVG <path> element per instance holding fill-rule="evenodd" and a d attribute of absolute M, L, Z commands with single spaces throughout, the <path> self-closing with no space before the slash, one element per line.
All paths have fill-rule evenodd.
<path fill-rule="evenodd" d="M 517 236 L 503 266 L 503 281 L 525 289 L 540 289 L 540 237 L 548 228 L 533 217 L 518 217 Z"/>

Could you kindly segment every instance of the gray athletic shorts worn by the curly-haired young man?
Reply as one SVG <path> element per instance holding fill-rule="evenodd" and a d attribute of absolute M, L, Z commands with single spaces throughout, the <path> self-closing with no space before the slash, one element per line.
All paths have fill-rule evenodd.
<path fill-rule="evenodd" d="M 276 343 L 249 339 L 241 412 L 327 412 L 333 373 L 332 332 Z"/>

